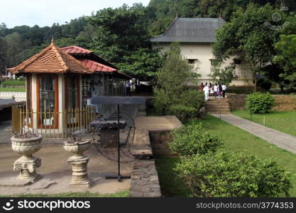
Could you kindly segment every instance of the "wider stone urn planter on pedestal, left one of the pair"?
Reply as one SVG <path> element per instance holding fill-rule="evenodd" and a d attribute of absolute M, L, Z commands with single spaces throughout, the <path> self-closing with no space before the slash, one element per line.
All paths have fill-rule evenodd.
<path fill-rule="evenodd" d="M 19 171 L 18 180 L 28 180 L 35 182 L 40 179 L 40 175 L 36 173 L 36 168 L 41 165 L 41 159 L 33 156 L 41 148 L 42 136 L 40 135 L 19 135 L 11 137 L 11 147 L 15 153 L 18 153 L 21 158 L 18 158 L 13 163 L 13 170 Z"/>

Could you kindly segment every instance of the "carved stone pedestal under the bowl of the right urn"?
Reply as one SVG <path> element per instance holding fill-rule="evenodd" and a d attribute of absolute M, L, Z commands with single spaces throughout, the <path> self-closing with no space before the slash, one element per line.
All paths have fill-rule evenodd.
<path fill-rule="evenodd" d="M 90 187 L 92 180 L 87 176 L 87 163 L 89 157 L 75 158 L 74 156 L 67 160 L 72 165 L 72 187 Z"/>

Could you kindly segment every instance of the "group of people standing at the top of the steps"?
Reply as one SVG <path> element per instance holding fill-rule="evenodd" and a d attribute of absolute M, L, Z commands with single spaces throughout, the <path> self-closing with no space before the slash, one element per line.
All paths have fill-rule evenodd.
<path fill-rule="evenodd" d="M 210 96 L 212 97 L 218 97 L 218 98 L 224 98 L 226 94 L 226 85 L 225 84 L 212 84 L 212 83 L 202 83 L 199 85 L 198 90 L 204 91 L 204 99 L 207 101 Z"/>

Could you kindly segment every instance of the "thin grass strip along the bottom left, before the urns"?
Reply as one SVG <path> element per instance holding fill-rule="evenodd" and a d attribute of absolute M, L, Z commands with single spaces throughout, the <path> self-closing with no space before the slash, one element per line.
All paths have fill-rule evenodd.
<path fill-rule="evenodd" d="M 35 194 L 35 195 L 9 195 L 9 196 L 0 196 L 0 197 L 129 197 L 129 191 L 121 191 L 115 192 L 112 194 L 107 195 L 100 195 L 97 193 L 90 193 L 90 192 L 69 192 L 69 193 L 62 193 L 62 194 L 55 194 L 55 195 L 43 195 L 43 194 Z"/>

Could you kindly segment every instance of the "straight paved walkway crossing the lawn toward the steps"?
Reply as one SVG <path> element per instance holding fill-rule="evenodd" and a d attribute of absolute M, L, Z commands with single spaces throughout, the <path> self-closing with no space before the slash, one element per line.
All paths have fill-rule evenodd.
<path fill-rule="evenodd" d="M 212 114 L 216 118 L 220 119 L 219 114 Z M 280 148 L 284 148 L 287 151 L 296 154 L 296 137 L 291 136 L 287 133 L 276 131 L 275 129 L 270 129 L 261 124 L 256 124 L 253 121 L 248 121 L 242 119 L 239 116 L 234 116 L 233 114 L 221 114 L 221 120 L 227 123 L 239 127 L 248 133 L 251 133 L 258 138 L 261 138 L 269 143 L 275 144 Z"/>

